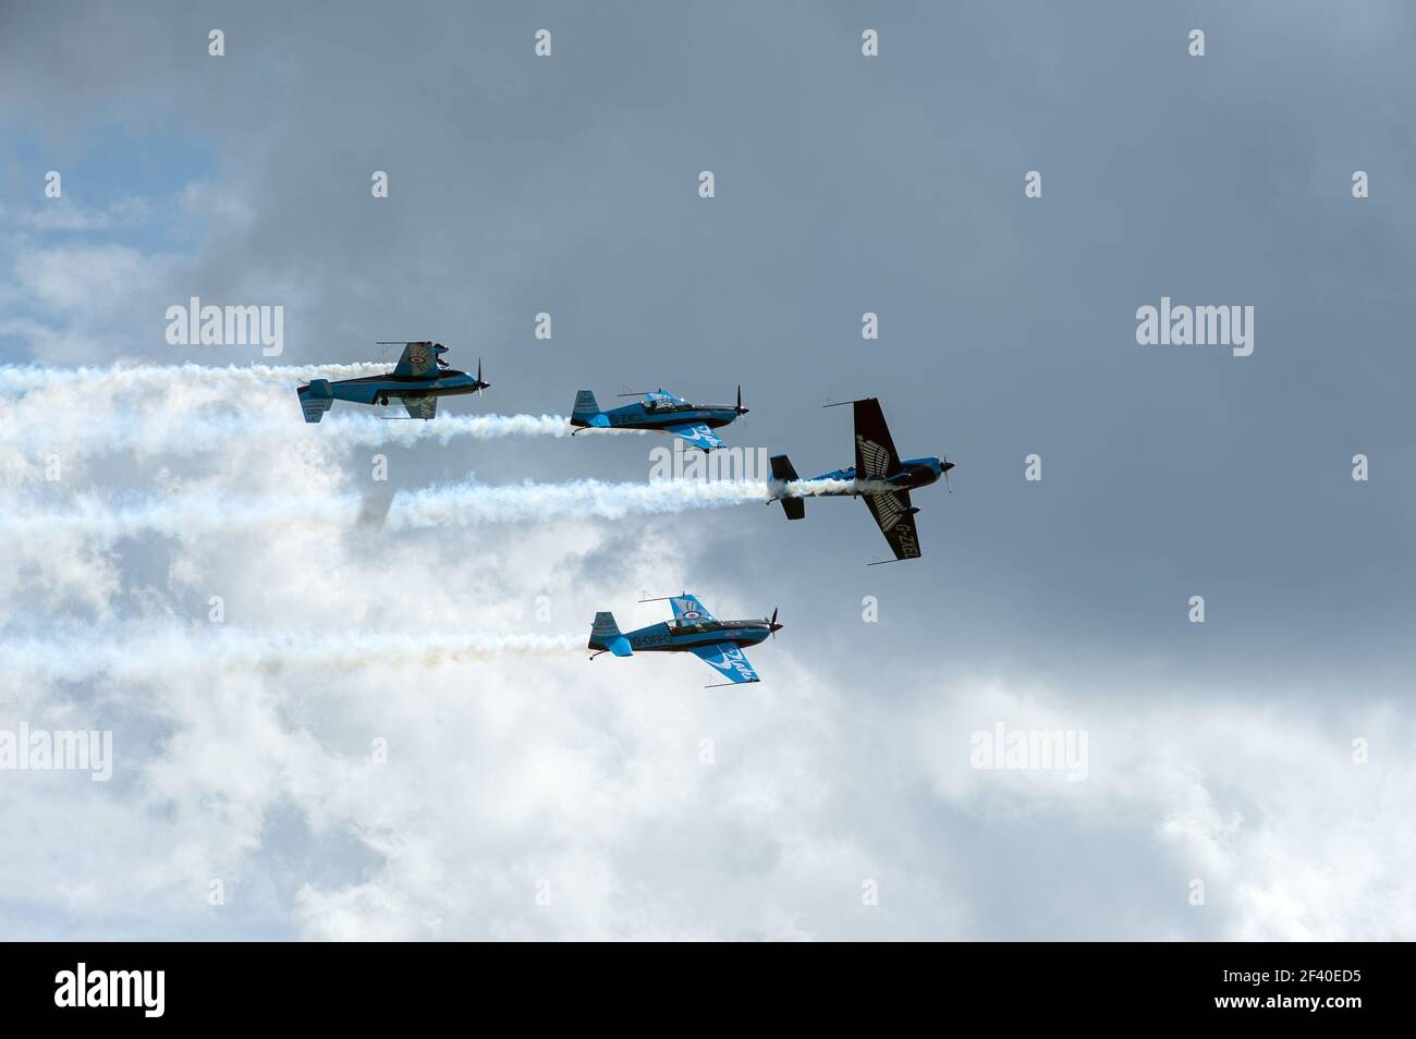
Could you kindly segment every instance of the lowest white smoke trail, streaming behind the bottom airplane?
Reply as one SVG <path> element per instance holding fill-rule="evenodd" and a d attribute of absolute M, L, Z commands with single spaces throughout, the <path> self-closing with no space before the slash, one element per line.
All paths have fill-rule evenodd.
<path fill-rule="evenodd" d="M 498 634 L 490 631 L 396 634 L 384 631 L 239 631 L 214 626 L 160 634 L 130 631 L 95 640 L 91 631 L 68 638 L 0 641 L 0 675 L 76 682 L 106 675 L 118 681 L 173 672 L 280 672 L 299 668 L 353 671 L 365 667 L 439 667 L 503 655 L 565 657 L 585 650 L 581 634 Z"/>

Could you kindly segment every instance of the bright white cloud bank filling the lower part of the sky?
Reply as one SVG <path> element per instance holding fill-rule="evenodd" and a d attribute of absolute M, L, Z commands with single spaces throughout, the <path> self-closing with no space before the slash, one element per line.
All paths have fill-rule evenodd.
<path fill-rule="evenodd" d="M 358 478 L 341 457 L 238 439 L 204 478 L 215 501 L 279 501 L 290 486 L 340 500 Z M 125 549 L 113 559 L 122 583 L 75 592 L 71 609 L 149 613 L 129 638 L 10 630 L 11 661 L 38 650 L 42 667 L 0 728 L 109 728 L 116 756 L 102 796 L 65 774 L 6 777 L 13 825 L 44 832 L 0 869 L 11 906 L 40 907 L 7 910 L 11 927 L 143 934 L 118 909 L 142 903 L 161 934 L 187 937 L 983 937 L 1000 927 L 997 899 L 1025 903 L 1058 871 L 1044 855 L 978 875 L 978 835 L 1044 821 L 1066 834 L 1054 856 L 1090 855 L 1103 873 L 1131 856 L 1158 866 L 1129 913 L 1058 902 L 1054 937 L 1412 927 L 1391 912 L 1409 896 L 1409 841 L 1381 856 L 1364 846 L 1400 831 L 1416 793 L 1413 770 L 1392 763 L 1410 737 L 1399 712 L 1352 722 L 1385 733 L 1378 760 L 1355 766 L 1345 732 L 1273 704 L 1209 698 L 1201 715 L 1180 691 L 1153 689 L 1117 713 L 1106 691 L 913 668 L 882 698 L 803 658 L 790 630 L 752 651 L 763 685 L 704 691 L 698 661 L 586 664 L 569 633 L 556 641 L 596 609 L 653 620 L 637 589 L 698 565 L 670 531 L 626 541 L 615 524 L 562 522 L 466 541 L 370 536 L 287 527 L 184 538 L 150 578 L 146 607 L 125 602 L 137 579 Z M 52 542 L 11 545 L 21 569 L 52 555 Z M 615 565 L 592 569 L 605 552 Z M 731 596 L 694 590 L 732 609 Z M 224 597 L 219 631 L 205 623 L 208 595 Z M 170 630 L 183 603 L 193 627 Z M 476 633 L 569 658 L 480 653 Z M 357 670 L 340 664 L 348 653 Z M 1089 730 L 1087 779 L 971 769 L 969 736 L 995 721 Z M 67 822 L 48 825 L 55 815 Z M 278 837 L 285 818 L 299 822 Z M 79 851 L 41 868 L 55 839 Z M 309 861 L 287 875 L 292 846 Z M 1187 902 L 1194 878 L 1204 907 Z M 212 880 L 221 906 L 208 902 Z M 878 905 L 862 902 L 865 885 Z"/>

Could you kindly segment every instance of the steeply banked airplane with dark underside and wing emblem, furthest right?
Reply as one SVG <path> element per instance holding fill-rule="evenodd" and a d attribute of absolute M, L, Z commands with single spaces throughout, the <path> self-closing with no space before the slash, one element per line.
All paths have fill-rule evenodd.
<path fill-rule="evenodd" d="M 949 470 L 954 467 L 954 463 L 944 459 L 906 459 L 901 461 L 895 442 L 889 436 L 889 426 L 885 425 L 885 413 L 881 411 L 879 401 L 869 396 L 864 401 L 844 401 L 843 403 L 855 406 L 855 464 L 813 478 L 850 481 L 851 487 L 848 488 L 823 491 L 821 494 L 865 498 L 871 515 L 879 524 L 881 534 L 895 551 L 895 559 L 918 559 L 919 532 L 915 529 L 915 514 L 919 512 L 919 508 L 910 504 L 909 493 L 916 487 L 927 487 L 939 477 L 944 477 L 947 486 Z M 827 408 L 835 406 L 827 405 Z M 796 469 L 792 467 L 786 454 L 777 454 L 772 459 L 773 498 L 782 503 L 782 511 L 787 514 L 787 520 L 806 517 L 806 498 L 789 497 L 786 487 L 789 481 L 797 478 Z"/>

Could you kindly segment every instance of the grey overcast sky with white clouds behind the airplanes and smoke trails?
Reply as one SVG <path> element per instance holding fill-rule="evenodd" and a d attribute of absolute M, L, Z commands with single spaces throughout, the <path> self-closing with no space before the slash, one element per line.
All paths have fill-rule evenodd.
<path fill-rule="evenodd" d="M 1413 21 L 0 7 L 0 362 L 346 364 L 435 338 L 491 382 L 439 422 L 741 384 L 725 439 L 806 476 L 852 461 L 848 409 L 818 405 L 862 395 L 903 456 L 957 463 L 953 494 L 915 494 L 923 558 L 875 568 L 852 501 L 792 524 L 24 528 L 0 545 L 0 640 L 82 658 L 160 631 L 173 655 L 0 671 L 0 730 L 115 745 L 108 783 L 0 771 L 0 934 L 1416 936 Z M 283 354 L 170 345 L 193 296 L 283 307 Z M 1253 307 L 1253 354 L 1138 345 L 1163 296 Z M 217 450 L 183 442 L 214 418 Z M 152 442 L 93 447 L 109 429 Z M 663 444 L 327 429 L 273 379 L 7 389 L 0 508 L 279 508 L 381 491 L 375 453 L 405 490 L 639 481 Z M 762 685 L 573 653 L 191 665 L 238 631 L 588 636 L 681 589 L 725 617 L 780 607 L 749 650 Z M 1085 779 L 974 767 L 997 725 L 1085 732 Z"/>

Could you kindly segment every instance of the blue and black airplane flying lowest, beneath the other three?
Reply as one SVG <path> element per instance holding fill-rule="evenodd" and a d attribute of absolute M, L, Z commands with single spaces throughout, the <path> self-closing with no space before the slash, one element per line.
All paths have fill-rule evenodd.
<path fill-rule="evenodd" d="M 660 603 L 663 599 L 641 599 L 640 602 Z M 590 626 L 589 645 L 596 653 L 590 654 L 590 660 L 602 653 L 630 657 L 636 650 L 640 653 L 692 653 L 729 679 L 705 687 L 708 689 L 719 685 L 762 681 L 743 655 L 742 647 L 756 645 L 767 636 L 776 637 L 776 633 L 782 630 L 782 626 L 777 624 L 776 610 L 766 620 L 716 620 L 704 609 L 697 596 L 687 592 L 681 596 L 670 596 L 668 602 L 674 606 L 671 621 L 650 624 L 637 631 L 620 631 L 613 613 L 596 613 L 595 624 Z"/>

